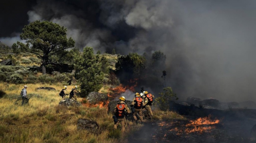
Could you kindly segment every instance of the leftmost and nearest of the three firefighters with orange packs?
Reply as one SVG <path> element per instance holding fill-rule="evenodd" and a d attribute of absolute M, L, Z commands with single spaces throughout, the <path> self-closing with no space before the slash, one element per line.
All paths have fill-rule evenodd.
<path fill-rule="evenodd" d="M 121 124 L 121 131 L 125 131 L 125 116 L 126 114 L 131 113 L 130 109 L 128 108 L 127 104 L 125 104 L 125 97 L 120 97 L 119 102 L 117 103 L 117 107 L 114 110 L 115 115 L 114 118 L 114 130 L 117 129 L 119 123 Z"/>

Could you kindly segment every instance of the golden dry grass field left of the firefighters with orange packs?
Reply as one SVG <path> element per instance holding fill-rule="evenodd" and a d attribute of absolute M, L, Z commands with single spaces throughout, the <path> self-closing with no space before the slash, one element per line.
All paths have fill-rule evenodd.
<path fill-rule="evenodd" d="M 113 129 L 112 116 L 106 108 L 59 107 L 58 93 L 63 85 L 52 85 L 57 91 L 36 90 L 39 84 L 28 84 L 28 94 L 34 95 L 26 106 L 15 105 L 12 98 L 19 96 L 24 85 L 0 83 L 6 93 L 0 100 L 1 143 L 116 143 L 109 139 Z M 72 86 L 68 86 L 68 92 Z M 82 98 L 78 98 L 81 101 Z M 100 125 L 100 133 L 78 131 L 79 118 L 93 119 Z"/>

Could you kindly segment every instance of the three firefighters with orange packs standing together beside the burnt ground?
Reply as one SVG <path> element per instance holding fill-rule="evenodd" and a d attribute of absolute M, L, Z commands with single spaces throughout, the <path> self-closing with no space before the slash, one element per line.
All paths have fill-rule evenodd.
<path fill-rule="evenodd" d="M 135 97 L 132 100 L 131 110 L 128 105 L 125 103 L 125 97 L 120 97 L 119 102 L 117 103 L 116 108 L 114 109 L 115 115 L 114 119 L 114 130 L 117 129 L 117 126 L 121 125 L 121 131 L 125 131 L 125 121 L 127 122 L 126 117 L 132 113 L 133 118 L 136 124 L 141 124 L 143 119 L 143 110 L 147 111 L 147 117 L 149 120 L 153 117 L 152 112 L 152 102 L 154 99 L 154 95 L 148 93 L 147 91 L 143 91 L 143 93 L 135 93 Z"/>

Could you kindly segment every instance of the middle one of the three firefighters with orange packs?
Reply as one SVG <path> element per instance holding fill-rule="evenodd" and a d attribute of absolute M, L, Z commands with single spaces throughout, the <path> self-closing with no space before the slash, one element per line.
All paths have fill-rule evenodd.
<path fill-rule="evenodd" d="M 140 97 L 139 93 L 135 94 L 135 98 L 132 100 L 132 104 L 130 105 L 131 107 L 134 107 L 134 113 L 133 113 L 133 118 L 136 121 L 136 124 L 141 124 L 143 122 L 143 111 L 142 107 L 145 106 L 143 102 L 143 98 Z M 139 119 L 137 118 L 136 114 L 138 113 Z"/>

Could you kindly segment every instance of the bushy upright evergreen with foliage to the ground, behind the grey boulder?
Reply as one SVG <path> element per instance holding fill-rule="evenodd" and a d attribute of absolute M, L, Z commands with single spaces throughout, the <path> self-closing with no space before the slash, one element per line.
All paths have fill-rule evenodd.
<path fill-rule="evenodd" d="M 91 47 L 83 49 L 83 54 L 75 57 L 75 78 L 78 80 L 81 97 L 87 97 L 90 92 L 98 92 L 102 88 L 103 72 L 99 54 L 94 54 Z"/>

